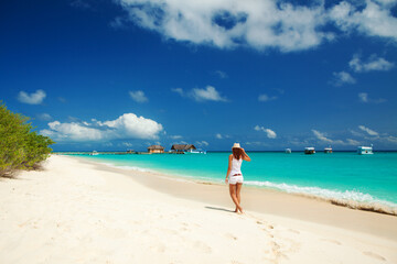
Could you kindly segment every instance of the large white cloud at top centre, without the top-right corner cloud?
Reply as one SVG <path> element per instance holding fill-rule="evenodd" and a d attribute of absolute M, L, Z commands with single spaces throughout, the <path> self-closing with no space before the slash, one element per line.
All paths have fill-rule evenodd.
<path fill-rule="evenodd" d="M 331 37 L 322 6 L 279 4 L 272 0 L 118 0 L 130 20 L 165 38 L 230 48 L 305 50 Z"/>

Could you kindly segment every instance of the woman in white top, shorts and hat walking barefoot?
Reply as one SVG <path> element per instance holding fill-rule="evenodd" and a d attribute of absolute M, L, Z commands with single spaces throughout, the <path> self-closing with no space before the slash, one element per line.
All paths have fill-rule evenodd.
<path fill-rule="evenodd" d="M 244 151 L 243 147 L 240 147 L 239 143 L 234 143 L 232 147 L 233 154 L 229 155 L 228 160 L 228 167 L 226 173 L 226 179 L 225 183 L 229 184 L 229 193 L 233 202 L 236 205 L 235 212 L 242 212 L 243 208 L 240 206 L 242 197 L 240 191 L 243 187 L 243 173 L 242 173 L 242 163 L 243 160 L 250 162 L 250 157 L 247 155 L 247 153 Z"/>

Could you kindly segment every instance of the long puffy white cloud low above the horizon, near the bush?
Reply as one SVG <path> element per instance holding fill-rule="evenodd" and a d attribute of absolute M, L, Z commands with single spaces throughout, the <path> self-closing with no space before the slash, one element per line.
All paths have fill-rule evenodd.
<path fill-rule="evenodd" d="M 49 123 L 49 129 L 40 133 L 49 135 L 55 141 L 100 141 L 116 139 L 141 139 L 155 140 L 163 127 L 143 117 L 133 113 L 125 113 L 115 120 L 92 122 Z"/>

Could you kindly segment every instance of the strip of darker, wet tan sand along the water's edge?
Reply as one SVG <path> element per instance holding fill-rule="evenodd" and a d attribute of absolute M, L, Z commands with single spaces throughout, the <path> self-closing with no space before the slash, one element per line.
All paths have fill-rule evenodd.
<path fill-rule="evenodd" d="M 117 166 L 109 166 L 108 164 L 88 161 L 87 158 L 72 158 L 81 163 L 94 165 L 100 170 L 132 177 L 146 187 L 178 198 L 213 202 L 229 208 L 234 206 L 228 195 L 227 186 L 222 184 L 208 184 L 203 183 L 203 180 L 170 176 L 157 172 L 118 168 Z M 397 241 L 397 217 L 391 215 L 333 205 L 329 200 L 319 197 L 308 197 L 305 195 L 288 194 L 251 186 L 243 188 L 242 197 L 243 208 L 250 211 L 366 232 Z"/>

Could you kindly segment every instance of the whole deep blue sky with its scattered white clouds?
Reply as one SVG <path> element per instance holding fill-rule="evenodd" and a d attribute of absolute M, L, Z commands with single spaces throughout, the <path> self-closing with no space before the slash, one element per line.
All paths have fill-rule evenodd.
<path fill-rule="evenodd" d="M 395 0 L 2 1 L 0 100 L 55 151 L 396 150 L 396 16 Z"/>

